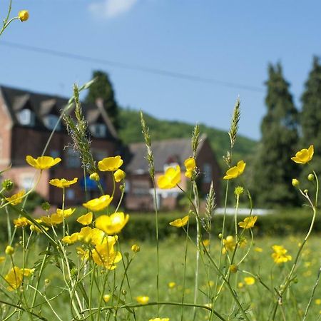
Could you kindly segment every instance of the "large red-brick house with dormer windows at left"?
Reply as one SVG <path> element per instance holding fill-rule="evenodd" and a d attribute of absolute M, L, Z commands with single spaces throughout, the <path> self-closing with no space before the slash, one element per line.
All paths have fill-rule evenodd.
<path fill-rule="evenodd" d="M 11 178 L 16 190 L 29 190 L 34 185 L 38 174 L 26 163 L 26 155 L 41 156 L 61 110 L 67 103 L 66 98 L 0 86 L 0 171 L 11 165 L 10 170 L 2 173 L 0 180 Z M 117 155 L 120 142 L 102 103 L 97 101 L 97 106 L 83 104 L 82 107 L 91 132 L 94 158 L 99 161 Z M 70 143 L 66 127 L 63 122 L 58 123 L 45 155 L 60 157 L 62 161 L 44 170 L 36 186 L 36 192 L 51 204 L 61 204 L 61 190 L 49 185 L 52 178 L 78 178 L 78 183 L 66 189 L 66 205 L 83 203 L 85 182 L 88 183 L 88 198 L 99 195 L 96 185 L 88 178 L 83 178 L 81 160 L 78 153 L 69 146 Z M 101 173 L 101 183 L 106 193 L 112 193 L 111 173 Z M 117 193 L 118 190 L 116 198 Z"/>

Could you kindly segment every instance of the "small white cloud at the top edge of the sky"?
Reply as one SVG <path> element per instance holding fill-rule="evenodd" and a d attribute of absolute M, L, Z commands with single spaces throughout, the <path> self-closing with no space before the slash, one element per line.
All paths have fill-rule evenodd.
<path fill-rule="evenodd" d="M 100 18 L 115 18 L 131 10 L 138 0 L 103 0 L 89 5 L 89 10 Z"/>

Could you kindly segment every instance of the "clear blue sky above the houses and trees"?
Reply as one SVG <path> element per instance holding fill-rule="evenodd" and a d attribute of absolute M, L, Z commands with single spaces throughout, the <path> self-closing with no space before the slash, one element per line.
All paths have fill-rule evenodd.
<path fill-rule="evenodd" d="M 1 16 L 6 2 L 1 1 Z M 70 96 L 74 82 L 85 83 L 100 69 L 109 73 L 121 106 L 224 130 L 240 96 L 240 133 L 255 139 L 265 114 L 267 63 L 282 63 L 300 108 L 312 56 L 321 56 L 321 2 L 316 0 L 13 2 L 13 14 L 28 9 L 30 18 L 15 21 L 1 36 L 0 83 Z M 6 41 L 262 90 L 50 56 Z"/>

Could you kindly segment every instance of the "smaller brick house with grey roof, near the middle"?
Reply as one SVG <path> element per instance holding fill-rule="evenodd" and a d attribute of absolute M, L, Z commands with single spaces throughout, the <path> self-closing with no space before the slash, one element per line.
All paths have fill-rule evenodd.
<path fill-rule="evenodd" d="M 181 182 L 180 187 L 184 190 L 188 187 L 189 178 L 186 178 L 183 165 L 186 158 L 192 156 L 190 138 L 177 138 L 152 143 L 152 151 L 155 161 L 156 181 L 163 175 L 166 168 L 180 165 Z M 133 143 L 128 146 L 130 159 L 126 166 L 126 208 L 128 210 L 153 210 L 153 183 L 148 173 L 146 161 L 146 146 L 144 143 Z M 213 185 L 216 200 L 220 199 L 220 167 L 216 161 L 215 154 L 210 147 L 208 138 L 204 135 L 200 138 L 200 145 L 196 155 L 196 165 L 200 170 L 198 187 L 200 197 L 205 197 Z M 178 199 L 182 196 L 179 188 L 162 190 L 156 186 L 156 198 L 158 207 L 173 210 L 178 205 Z"/>

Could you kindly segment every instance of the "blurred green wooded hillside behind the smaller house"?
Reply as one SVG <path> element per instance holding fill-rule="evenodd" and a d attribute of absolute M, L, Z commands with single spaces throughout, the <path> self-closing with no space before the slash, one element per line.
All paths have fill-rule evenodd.
<path fill-rule="evenodd" d="M 194 128 L 193 124 L 180 121 L 161 121 L 147 113 L 144 113 L 144 118 L 150 129 L 152 143 L 153 141 L 160 141 L 168 138 L 189 138 Z M 119 123 L 121 123 L 121 128 L 118 131 L 118 135 L 124 143 L 143 141 L 139 111 L 120 108 Z M 228 133 L 203 124 L 200 124 L 200 133 L 207 134 L 218 161 L 223 165 L 223 155 L 226 154 L 226 151 L 230 146 Z M 256 141 L 243 136 L 238 136 L 238 140 L 234 147 L 234 160 L 237 161 L 240 158 L 243 158 L 245 161 L 248 160 L 255 151 L 255 146 L 257 146 Z"/>

